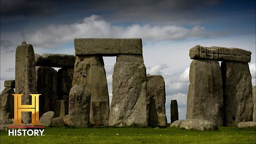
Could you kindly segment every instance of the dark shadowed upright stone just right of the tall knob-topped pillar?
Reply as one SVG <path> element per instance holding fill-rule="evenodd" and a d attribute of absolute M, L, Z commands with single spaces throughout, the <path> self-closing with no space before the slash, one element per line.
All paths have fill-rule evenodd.
<path fill-rule="evenodd" d="M 51 67 L 36 67 L 36 93 L 39 98 L 39 117 L 54 111 L 57 99 L 57 71 Z"/>

